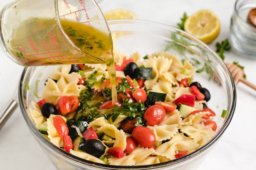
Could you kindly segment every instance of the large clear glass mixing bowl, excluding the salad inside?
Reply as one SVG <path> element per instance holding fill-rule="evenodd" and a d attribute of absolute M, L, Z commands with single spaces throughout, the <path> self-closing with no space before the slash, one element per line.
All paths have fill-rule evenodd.
<path fill-rule="evenodd" d="M 218 129 L 215 136 L 203 147 L 184 157 L 148 166 L 109 166 L 75 157 L 53 145 L 36 129 L 28 109 L 31 101 L 40 100 L 35 94 L 41 96 L 47 75 L 57 66 L 28 67 L 21 76 L 20 109 L 32 135 L 58 169 L 195 169 L 203 161 L 206 153 L 220 140 L 234 114 L 236 90 L 225 63 L 203 42 L 167 25 L 141 20 L 109 20 L 108 26 L 111 33 L 116 33 L 117 51 L 122 51 L 126 55 L 138 51 L 140 56 L 145 56 L 166 50 L 180 60 L 190 60 L 198 70 L 204 70 L 196 73 L 194 78 L 212 94 L 208 106 L 216 113 L 214 120 Z M 225 118 L 221 117 L 223 109 L 227 110 Z"/>

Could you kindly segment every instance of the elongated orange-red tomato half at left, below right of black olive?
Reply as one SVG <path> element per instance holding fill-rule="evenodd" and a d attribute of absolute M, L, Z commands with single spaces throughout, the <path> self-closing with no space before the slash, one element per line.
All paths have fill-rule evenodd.
<path fill-rule="evenodd" d="M 52 122 L 60 138 L 68 135 L 68 125 L 61 116 L 54 116 Z"/>

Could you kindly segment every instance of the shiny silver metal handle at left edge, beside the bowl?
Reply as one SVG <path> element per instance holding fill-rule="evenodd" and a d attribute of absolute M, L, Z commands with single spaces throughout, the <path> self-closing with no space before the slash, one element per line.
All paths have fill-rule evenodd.
<path fill-rule="evenodd" d="M 16 100 L 12 100 L 4 109 L 4 112 L 1 113 L 0 117 L 0 129 L 3 127 L 4 123 L 8 120 L 8 118 L 12 115 L 12 113 L 16 110 L 18 103 Z"/>

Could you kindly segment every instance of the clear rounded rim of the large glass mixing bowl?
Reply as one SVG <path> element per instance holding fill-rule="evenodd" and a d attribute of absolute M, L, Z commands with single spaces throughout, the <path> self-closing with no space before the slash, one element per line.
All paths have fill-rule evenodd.
<path fill-rule="evenodd" d="M 167 162 L 163 162 L 163 163 L 158 163 L 158 164 L 151 164 L 151 165 L 143 165 L 143 166 L 132 166 L 132 169 L 141 169 L 141 168 L 147 168 L 147 169 L 151 169 L 151 168 L 161 168 L 161 167 L 167 167 L 167 166 L 173 166 L 174 164 L 179 164 L 185 160 L 188 160 L 192 157 L 197 156 L 198 154 L 205 152 L 207 149 L 210 148 L 210 146 L 212 146 L 215 142 L 218 141 L 218 139 L 222 136 L 222 134 L 224 133 L 224 131 L 227 129 L 229 123 L 232 120 L 232 117 L 234 115 L 234 111 L 235 111 L 235 107 L 236 107 L 236 87 L 235 87 L 235 83 L 233 80 L 233 77 L 230 73 L 230 71 L 228 70 L 226 64 L 223 62 L 223 60 L 220 59 L 220 57 L 217 55 L 217 53 L 215 51 L 213 51 L 210 47 L 208 47 L 208 45 L 206 45 L 204 42 L 198 40 L 196 37 L 194 37 L 193 35 L 190 35 L 188 33 L 186 33 L 185 31 L 182 31 L 178 28 L 166 25 L 166 24 L 162 24 L 162 23 L 157 23 L 154 21 L 147 21 L 147 20 L 140 20 L 140 19 L 113 19 L 113 20 L 108 20 L 107 21 L 108 24 L 124 24 L 124 23 L 135 23 L 135 24 L 154 24 L 154 25 L 158 25 L 161 27 L 164 27 L 166 29 L 169 30 L 175 30 L 175 31 L 179 31 L 181 33 L 183 33 L 184 35 L 187 35 L 189 38 L 192 38 L 193 41 L 195 40 L 197 43 L 202 44 L 202 46 L 204 48 L 206 48 L 207 50 L 209 50 L 214 56 L 215 59 L 218 60 L 218 63 L 221 64 L 222 67 L 224 67 L 223 69 L 227 70 L 227 74 L 230 77 L 231 80 L 231 87 L 232 87 L 232 92 L 233 92 L 233 100 L 230 101 L 231 102 L 231 106 L 230 106 L 230 111 L 229 111 L 229 115 L 226 118 L 226 120 L 224 121 L 222 127 L 219 129 L 219 131 L 214 135 L 214 137 L 212 137 L 212 139 L 207 142 L 206 144 L 204 144 L 202 147 L 200 147 L 199 149 L 197 149 L 194 152 L 191 152 L 183 157 L 177 158 L 177 159 L 172 159 L 170 161 Z M 36 66 L 38 67 L 38 66 Z M 79 163 L 80 165 L 83 166 L 90 166 L 91 168 L 105 168 L 105 169 L 127 169 L 127 168 L 131 168 L 131 166 L 115 166 L 115 165 L 105 165 L 105 164 L 100 164 L 97 162 L 92 162 L 86 159 L 82 159 L 79 157 L 76 157 L 58 147 L 56 147 L 54 144 L 52 144 L 49 140 L 47 140 L 39 131 L 38 129 L 35 127 L 35 125 L 33 124 L 33 122 L 30 120 L 28 113 L 26 112 L 26 106 L 24 105 L 23 102 L 23 79 L 26 76 L 27 72 L 29 72 L 30 70 L 32 70 L 34 67 L 25 67 L 21 77 L 20 77 L 20 82 L 19 82 L 19 105 L 20 105 L 20 110 L 22 112 L 22 115 L 29 127 L 29 130 L 31 131 L 32 135 L 34 137 L 36 137 L 38 140 L 40 140 L 41 142 L 43 142 L 45 145 L 48 145 L 52 150 L 54 150 L 55 152 L 58 152 L 60 155 L 64 156 L 66 159 L 72 160 L 72 162 L 75 163 Z M 37 140 L 36 139 L 36 140 Z"/>

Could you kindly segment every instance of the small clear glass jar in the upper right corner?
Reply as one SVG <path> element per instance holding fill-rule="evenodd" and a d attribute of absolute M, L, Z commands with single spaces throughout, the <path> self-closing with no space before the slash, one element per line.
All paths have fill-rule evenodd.
<path fill-rule="evenodd" d="M 230 24 L 230 41 L 243 56 L 256 59 L 256 28 L 247 23 L 256 0 L 237 0 Z"/>

